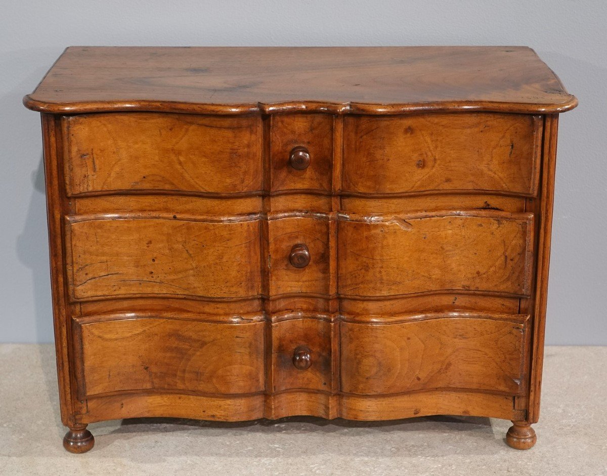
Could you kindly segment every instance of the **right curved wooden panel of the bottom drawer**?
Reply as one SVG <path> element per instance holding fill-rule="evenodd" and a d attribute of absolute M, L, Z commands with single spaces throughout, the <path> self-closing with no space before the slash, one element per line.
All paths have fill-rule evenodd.
<path fill-rule="evenodd" d="M 419 320 L 417 320 L 419 319 Z M 436 314 L 341 326 L 342 390 L 524 392 L 529 316 Z"/>

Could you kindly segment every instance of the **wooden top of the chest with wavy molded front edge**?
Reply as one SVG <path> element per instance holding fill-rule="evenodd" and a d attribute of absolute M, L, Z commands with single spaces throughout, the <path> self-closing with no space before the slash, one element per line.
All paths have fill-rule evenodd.
<path fill-rule="evenodd" d="M 564 112 L 577 105 L 528 47 L 69 47 L 30 109 Z"/>

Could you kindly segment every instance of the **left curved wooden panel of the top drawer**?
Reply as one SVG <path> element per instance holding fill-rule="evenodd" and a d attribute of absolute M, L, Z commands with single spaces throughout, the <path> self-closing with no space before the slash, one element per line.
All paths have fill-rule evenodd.
<path fill-rule="evenodd" d="M 68 195 L 120 190 L 247 193 L 262 188 L 257 116 L 89 114 L 64 119 Z"/>

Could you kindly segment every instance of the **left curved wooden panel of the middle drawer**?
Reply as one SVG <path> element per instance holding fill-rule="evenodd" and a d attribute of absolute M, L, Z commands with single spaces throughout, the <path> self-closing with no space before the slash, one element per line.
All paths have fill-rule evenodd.
<path fill-rule="evenodd" d="M 200 220 L 177 215 L 69 217 L 66 246 L 72 298 L 259 294 L 259 220 Z"/>

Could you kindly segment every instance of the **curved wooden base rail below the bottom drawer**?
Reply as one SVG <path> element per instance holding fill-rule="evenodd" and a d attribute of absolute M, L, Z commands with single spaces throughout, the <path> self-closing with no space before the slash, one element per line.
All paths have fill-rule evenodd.
<path fill-rule="evenodd" d="M 305 397 L 304 397 L 305 395 Z M 381 420 L 427 415 L 478 415 L 520 420 L 512 397 L 486 393 L 434 390 L 399 396 L 342 395 L 288 392 L 273 396 L 199 396 L 137 393 L 90 398 L 89 411 L 78 415 L 83 424 L 106 419 L 172 416 L 216 421 L 246 421 L 317 415 L 324 418 Z"/>

